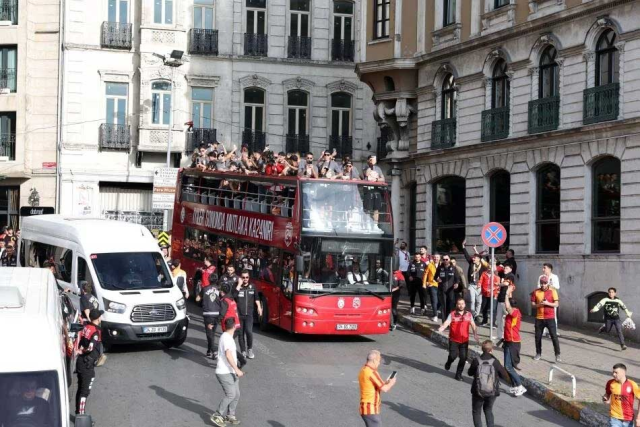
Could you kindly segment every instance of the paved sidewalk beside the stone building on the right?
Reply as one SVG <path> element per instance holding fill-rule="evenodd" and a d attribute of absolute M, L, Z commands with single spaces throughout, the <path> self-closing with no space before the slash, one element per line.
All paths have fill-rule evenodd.
<path fill-rule="evenodd" d="M 411 316 L 409 304 L 402 298 L 399 305 L 400 322 L 414 331 L 428 337 L 443 347 L 448 345 L 448 331 L 437 332 L 439 323 L 432 322 L 425 316 Z M 429 310 L 429 314 L 431 311 Z M 589 426 L 603 426 L 608 423 L 608 407 L 602 403 L 604 387 L 611 379 L 611 370 L 615 363 L 627 366 L 628 376 L 635 381 L 640 380 L 640 348 L 638 343 L 627 341 L 628 349 L 620 350 L 617 336 L 597 334 L 595 331 L 572 328 L 560 324 L 560 351 L 562 369 L 576 377 L 576 397 L 571 397 L 571 378 L 560 371 L 554 371 L 553 382 L 549 384 L 549 368 L 555 362 L 553 344 L 550 338 L 542 339 L 542 360 L 533 360 L 535 355 L 534 324 L 532 317 L 522 320 L 521 336 L 521 371 L 523 383 L 528 389 L 527 395 L 546 403 L 562 414 Z M 478 328 L 480 340 L 489 337 L 489 328 Z M 495 332 L 494 332 L 495 333 Z M 474 357 L 480 347 L 473 343 L 470 356 Z M 495 356 L 504 361 L 502 349 L 494 350 Z M 442 364 L 446 356 L 442 356 Z"/>

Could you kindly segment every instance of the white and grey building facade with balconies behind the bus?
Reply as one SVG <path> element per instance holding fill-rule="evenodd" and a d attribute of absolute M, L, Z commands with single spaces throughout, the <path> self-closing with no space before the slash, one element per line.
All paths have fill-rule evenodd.
<path fill-rule="evenodd" d="M 62 139 L 63 213 L 158 227 L 152 177 L 169 140 L 173 166 L 213 139 L 316 155 L 335 147 L 358 162 L 375 150 L 372 93 L 354 73 L 359 1 L 66 5 L 63 105 L 79 124 Z M 165 65 L 174 50 L 180 67 Z"/>

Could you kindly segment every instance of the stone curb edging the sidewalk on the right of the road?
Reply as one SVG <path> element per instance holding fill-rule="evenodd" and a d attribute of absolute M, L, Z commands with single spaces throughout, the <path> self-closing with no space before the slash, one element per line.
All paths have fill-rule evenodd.
<path fill-rule="evenodd" d="M 437 332 L 437 330 L 433 329 L 431 326 L 410 319 L 404 314 L 399 313 L 398 317 L 400 318 L 400 323 L 407 328 L 428 338 L 441 347 L 447 348 L 449 346 L 449 339 L 445 335 Z M 478 356 L 479 354 L 476 350 L 469 348 L 469 359 Z M 562 415 L 589 427 L 609 425 L 609 417 L 596 412 L 581 403 L 567 400 L 564 396 L 556 393 L 547 385 L 539 381 L 523 377 L 522 375 L 520 375 L 520 378 L 522 379 L 524 386 L 527 388 L 528 396 L 540 403 L 552 407 Z"/>

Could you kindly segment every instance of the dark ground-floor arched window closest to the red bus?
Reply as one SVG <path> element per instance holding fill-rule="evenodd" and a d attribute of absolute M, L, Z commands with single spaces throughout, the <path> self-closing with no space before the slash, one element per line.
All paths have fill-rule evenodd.
<path fill-rule="evenodd" d="M 465 236 L 465 180 L 457 176 L 433 184 L 433 248 L 459 252 Z"/>

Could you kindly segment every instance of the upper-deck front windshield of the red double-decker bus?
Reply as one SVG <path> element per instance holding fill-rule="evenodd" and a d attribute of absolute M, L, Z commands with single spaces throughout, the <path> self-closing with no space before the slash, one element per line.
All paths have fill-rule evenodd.
<path fill-rule="evenodd" d="M 386 186 L 304 182 L 302 204 L 305 232 L 392 236 L 391 201 Z"/>

